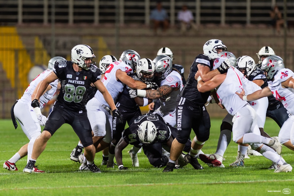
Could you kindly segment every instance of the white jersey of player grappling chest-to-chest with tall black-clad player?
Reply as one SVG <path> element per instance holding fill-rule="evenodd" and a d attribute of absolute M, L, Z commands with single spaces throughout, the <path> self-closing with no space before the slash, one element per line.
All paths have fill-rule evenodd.
<path fill-rule="evenodd" d="M 247 80 L 243 76 L 244 75 L 238 69 L 230 67 L 225 80 L 216 91 L 220 103 L 225 106 L 225 109 L 227 109 L 228 113 L 231 115 L 235 115 L 239 109 L 248 104 L 235 93 L 241 92 L 243 89 L 242 81 Z"/>

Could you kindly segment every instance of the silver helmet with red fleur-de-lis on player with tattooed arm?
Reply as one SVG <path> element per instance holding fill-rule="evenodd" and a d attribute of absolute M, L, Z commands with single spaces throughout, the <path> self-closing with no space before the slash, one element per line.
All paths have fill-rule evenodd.
<path fill-rule="evenodd" d="M 164 80 L 173 70 L 171 57 L 167 55 L 159 55 L 153 59 L 155 65 L 155 77 L 158 80 Z"/>

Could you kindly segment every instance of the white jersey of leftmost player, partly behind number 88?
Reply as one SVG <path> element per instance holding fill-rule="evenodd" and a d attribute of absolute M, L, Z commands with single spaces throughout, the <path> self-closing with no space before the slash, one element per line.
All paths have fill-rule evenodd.
<path fill-rule="evenodd" d="M 50 69 L 46 69 L 44 72 L 39 74 L 26 88 L 24 91 L 24 95 L 20 98 L 21 101 L 26 102 L 31 105 L 31 96 L 38 85 L 39 82 L 41 82 L 47 75 L 49 75 L 52 72 Z M 46 103 L 48 103 L 54 96 L 57 90 L 57 84 L 58 79 L 56 79 L 54 82 L 51 82 L 49 85 L 52 87 L 49 91 L 46 91 L 41 97 L 40 97 L 40 108 L 42 108 Z"/>

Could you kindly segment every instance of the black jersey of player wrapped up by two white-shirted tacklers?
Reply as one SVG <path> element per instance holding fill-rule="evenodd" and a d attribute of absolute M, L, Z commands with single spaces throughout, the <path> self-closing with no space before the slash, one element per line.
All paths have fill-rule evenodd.
<path fill-rule="evenodd" d="M 134 80 L 141 81 L 138 78 L 137 73 L 130 74 L 130 77 L 132 77 Z M 129 90 L 130 88 L 127 87 L 127 85 L 125 85 L 125 87 L 123 87 L 123 91 L 121 92 L 121 94 L 118 95 L 118 98 L 116 99 L 116 101 L 119 102 L 124 107 L 129 107 L 129 108 L 138 107 L 135 100 L 130 97 Z"/>

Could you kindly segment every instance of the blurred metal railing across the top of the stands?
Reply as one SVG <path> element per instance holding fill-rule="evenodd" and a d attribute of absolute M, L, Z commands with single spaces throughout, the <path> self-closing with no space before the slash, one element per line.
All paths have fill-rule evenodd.
<path fill-rule="evenodd" d="M 114 23 L 150 24 L 150 12 L 156 0 L 0 0 L 0 24 L 51 23 Z M 270 22 L 270 9 L 275 0 L 165 0 L 162 1 L 171 25 L 177 23 L 177 13 L 186 4 L 196 23 L 257 24 Z M 281 11 L 283 0 L 276 0 Z M 51 5 L 55 5 L 52 9 Z M 287 18 L 294 21 L 294 1 L 287 3 Z M 116 9 L 118 8 L 118 9 Z"/>

